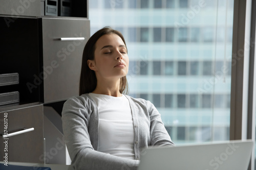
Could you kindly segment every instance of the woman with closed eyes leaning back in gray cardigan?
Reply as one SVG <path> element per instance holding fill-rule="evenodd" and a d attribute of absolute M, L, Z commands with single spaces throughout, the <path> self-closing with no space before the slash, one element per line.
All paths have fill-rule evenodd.
<path fill-rule="evenodd" d="M 154 105 L 124 94 L 128 67 L 120 32 L 105 27 L 88 40 L 80 96 L 62 111 L 70 169 L 137 169 L 143 148 L 174 146 Z"/>

